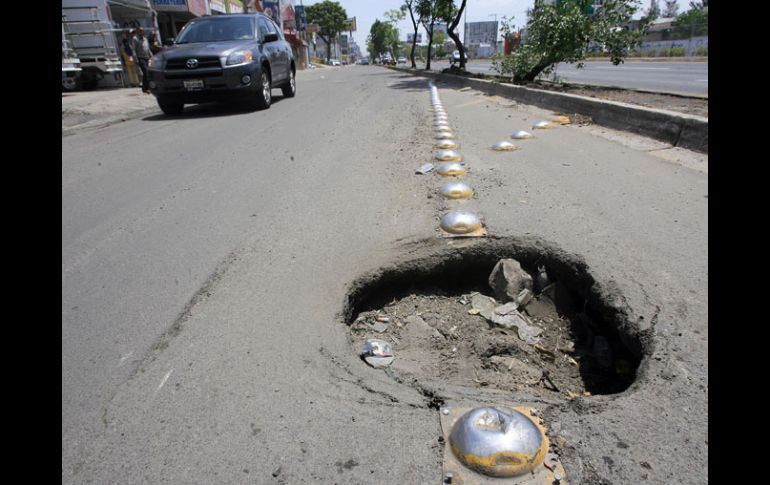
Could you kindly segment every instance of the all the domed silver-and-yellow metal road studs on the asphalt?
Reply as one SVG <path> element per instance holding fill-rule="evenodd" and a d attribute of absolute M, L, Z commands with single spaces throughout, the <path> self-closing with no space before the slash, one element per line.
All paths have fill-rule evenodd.
<path fill-rule="evenodd" d="M 473 197 L 474 191 L 463 180 L 468 167 L 460 155 L 460 143 L 449 124 L 438 88 L 430 83 L 431 110 L 434 115 L 435 141 L 433 160 L 439 162 L 436 173 L 453 181 L 444 183 L 439 193 L 452 200 Z M 538 121 L 532 129 L 548 129 L 569 123 L 566 116 Z M 516 131 L 514 140 L 534 138 L 527 131 Z M 490 147 L 495 151 L 517 150 L 509 141 Z M 428 167 L 426 169 L 426 166 Z M 432 170 L 431 164 L 419 173 Z M 482 237 L 487 235 L 481 218 L 467 211 L 449 211 L 441 217 L 443 237 Z M 546 435 L 540 411 L 516 403 L 479 404 L 475 407 L 446 405 L 440 410 L 444 450 L 444 484 L 465 485 L 563 485 L 564 468 Z"/>

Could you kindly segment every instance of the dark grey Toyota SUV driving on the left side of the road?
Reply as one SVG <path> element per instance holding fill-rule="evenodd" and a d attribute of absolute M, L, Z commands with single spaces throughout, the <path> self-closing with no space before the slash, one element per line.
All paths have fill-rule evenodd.
<path fill-rule="evenodd" d="M 150 92 L 167 115 L 185 104 L 247 99 L 270 107 L 272 89 L 297 92 L 291 47 L 261 13 L 200 17 L 149 63 Z"/>

